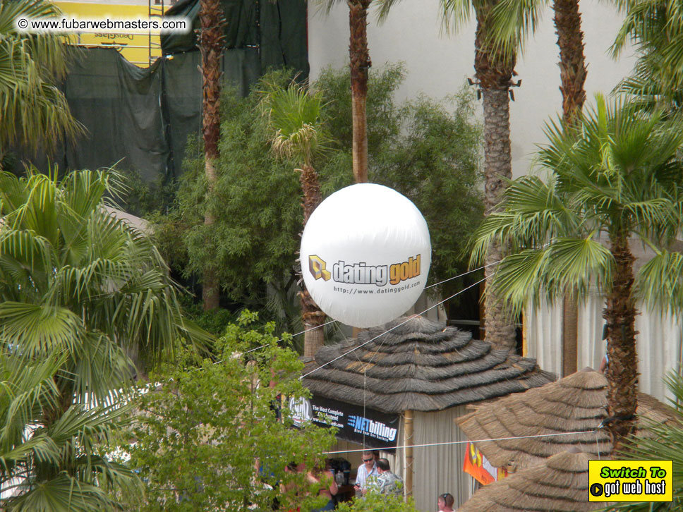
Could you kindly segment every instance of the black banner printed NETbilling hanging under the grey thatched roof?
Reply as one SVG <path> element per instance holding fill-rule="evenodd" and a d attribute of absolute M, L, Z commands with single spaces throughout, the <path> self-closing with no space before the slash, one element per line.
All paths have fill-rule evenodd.
<path fill-rule="evenodd" d="M 301 427 L 310 421 L 321 427 L 337 427 L 337 439 L 364 444 L 368 448 L 392 450 L 398 442 L 399 420 L 397 414 L 380 413 L 378 410 L 354 406 L 332 398 L 313 395 L 310 400 L 290 398 L 294 425 Z"/>

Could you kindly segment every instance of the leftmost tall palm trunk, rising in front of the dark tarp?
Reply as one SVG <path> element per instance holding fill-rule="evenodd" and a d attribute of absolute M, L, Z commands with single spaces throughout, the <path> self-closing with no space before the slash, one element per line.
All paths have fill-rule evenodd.
<path fill-rule="evenodd" d="M 205 176 L 207 181 L 207 197 L 211 195 L 216 183 L 216 166 L 218 163 L 218 139 L 220 136 L 220 94 L 221 68 L 220 59 L 223 39 L 223 13 L 220 0 L 201 0 L 200 20 L 202 28 L 199 35 L 199 47 L 202 53 L 202 133 L 204 138 Z M 204 224 L 214 223 L 210 201 L 204 215 Z M 217 309 L 219 305 L 219 283 L 216 269 L 211 261 L 207 262 L 203 277 L 204 310 Z"/>

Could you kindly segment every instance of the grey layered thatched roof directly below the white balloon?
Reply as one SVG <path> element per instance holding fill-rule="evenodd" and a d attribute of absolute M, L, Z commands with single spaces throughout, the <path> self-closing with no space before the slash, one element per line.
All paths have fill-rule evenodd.
<path fill-rule="evenodd" d="M 306 365 L 303 384 L 327 398 L 357 405 L 365 399 L 369 408 L 399 413 L 443 410 L 526 391 L 554 379 L 536 360 L 493 350 L 469 332 L 423 317 L 411 317 L 396 327 L 405 321 L 397 319 L 362 331 L 357 340 L 320 348 L 315 361 Z M 396 328 L 380 336 L 392 327 Z"/>

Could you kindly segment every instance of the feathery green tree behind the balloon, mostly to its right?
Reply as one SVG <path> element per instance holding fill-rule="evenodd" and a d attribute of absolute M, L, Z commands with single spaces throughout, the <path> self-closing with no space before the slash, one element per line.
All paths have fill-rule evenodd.
<path fill-rule="evenodd" d="M 370 181 L 398 190 L 420 209 L 430 229 L 430 283 L 464 271 L 467 240 L 483 219 L 479 171 L 481 127 L 474 121 L 474 101 L 465 86 L 457 95 L 436 101 L 418 97 L 394 102 L 404 80 L 401 65 L 378 68 L 370 78 L 368 151 Z M 348 155 L 351 145 L 351 93 L 346 72 L 327 69 L 315 87 L 325 93 L 325 122 Z M 346 186 L 344 167 L 321 172 L 325 195 Z M 337 172 L 335 172 L 337 171 Z M 444 286 L 452 295 L 462 282 Z"/>

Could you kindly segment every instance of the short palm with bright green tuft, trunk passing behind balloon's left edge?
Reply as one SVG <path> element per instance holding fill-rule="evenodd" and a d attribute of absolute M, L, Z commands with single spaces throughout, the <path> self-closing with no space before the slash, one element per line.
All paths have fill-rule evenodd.
<path fill-rule="evenodd" d="M 292 82 L 289 87 L 265 84 L 262 97 L 262 111 L 268 118 L 272 133 L 272 150 L 280 157 L 301 162 L 296 169 L 303 192 L 303 225 L 313 214 L 320 202 L 320 183 L 318 173 L 313 169 L 313 158 L 325 151 L 327 136 L 322 128 L 320 114 L 322 93 L 311 93 L 308 87 Z M 302 265 L 307 264 L 301 262 Z M 325 313 L 310 297 L 306 284 L 299 292 L 303 327 L 306 330 L 303 340 L 303 355 L 313 357 L 325 343 Z"/>

